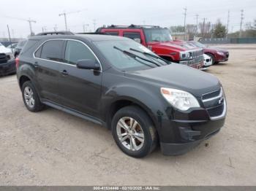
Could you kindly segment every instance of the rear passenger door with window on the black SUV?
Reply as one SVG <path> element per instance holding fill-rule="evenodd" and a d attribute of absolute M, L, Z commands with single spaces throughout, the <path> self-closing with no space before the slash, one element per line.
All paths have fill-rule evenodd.
<path fill-rule="evenodd" d="M 42 98 L 59 104 L 60 66 L 63 62 L 64 40 L 51 39 L 34 52 L 34 66 Z"/>

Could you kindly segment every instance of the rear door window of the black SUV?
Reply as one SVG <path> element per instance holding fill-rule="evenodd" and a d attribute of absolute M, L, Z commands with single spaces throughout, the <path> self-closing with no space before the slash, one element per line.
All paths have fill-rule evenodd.
<path fill-rule="evenodd" d="M 42 52 L 40 58 L 50 61 L 63 61 L 61 58 L 61 52 L 63 48 L 63 40 L 50 40 L 42 45 Z M 39 54 L 39 52 L 36 54 Z"/>

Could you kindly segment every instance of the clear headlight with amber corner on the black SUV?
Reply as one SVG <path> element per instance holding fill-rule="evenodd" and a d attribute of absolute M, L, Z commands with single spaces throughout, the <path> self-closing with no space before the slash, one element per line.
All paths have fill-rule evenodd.
<path fill-rule="evenodd" d="M 172 106 L 182 111 L 192 107 L 200 107 L 197 99 L 191 93 L 167 87 L 161 87 L 161 93 Z"/>

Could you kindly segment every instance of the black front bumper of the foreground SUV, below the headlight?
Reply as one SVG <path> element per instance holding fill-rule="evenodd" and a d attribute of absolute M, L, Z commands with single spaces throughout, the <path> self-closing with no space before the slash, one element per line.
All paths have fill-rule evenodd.
<path fill-rule="evenodd" d="M 219 132 L 225 123 L 227 106 L 225 98 L 216 98 L 207 101 L 205 105 L 211 105 L 213 102 L 215 105 L 218 101 L 222 103 L 214 107 L 208 106 L 210 109 L 190 109 L 187 112 L 166 109 L 167 116 L 162 117 L 162 127 L 159 130 L 164 155 L 182 155 Z"/>

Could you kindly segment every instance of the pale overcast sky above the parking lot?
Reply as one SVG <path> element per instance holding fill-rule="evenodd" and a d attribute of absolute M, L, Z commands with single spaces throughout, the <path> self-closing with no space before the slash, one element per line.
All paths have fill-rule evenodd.
<path fill-rule="evenodd" d="M 65 29 L 62 12 L 67 14 L 67 26 L 72 32 L 94 31 L 102 25 L 146 24 L 170 27 L 184 25 L 184 8 L 187 8 L 186 23 L 206 21 L 216 23 L 217 19 L 227 25 L 230 10 L 229 31 L 238 31 L 241 9 L 244 9 L 244 23 L 256 19 L 256 0 L 0 0 L 0 37 L 10 35 L 25 38 L 30 34 L 29 18 L 36 20 L 32 29 L 37 34 Z M 243 26 L 244 27 L 244 26 Z"/>

